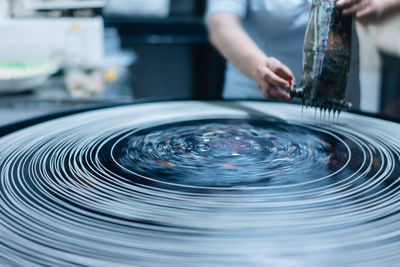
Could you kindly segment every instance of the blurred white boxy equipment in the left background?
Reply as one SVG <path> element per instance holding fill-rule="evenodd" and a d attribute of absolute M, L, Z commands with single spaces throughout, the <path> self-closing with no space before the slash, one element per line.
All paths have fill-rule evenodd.
<path fill-rule="evenodd" d="M 10 60 L 61 61 L 73 25 L 79 25 L 83 38 L 81 54 L 85 68 L 103 62 L 103 19 L 34 18 L 0 21 L 0 62 Z"/>

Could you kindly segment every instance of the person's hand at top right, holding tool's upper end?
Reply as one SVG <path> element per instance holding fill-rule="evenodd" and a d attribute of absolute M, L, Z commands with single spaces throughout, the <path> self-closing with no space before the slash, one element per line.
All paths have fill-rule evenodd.
<path fill-rule="evenodd" d="M 337 6 L 344 8 L 343 15 L 354 15 L 363 23 L 376 22 L 399 5 L 400 0 L 337 0 Z"/>

